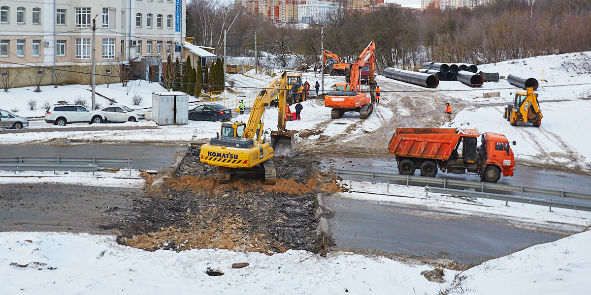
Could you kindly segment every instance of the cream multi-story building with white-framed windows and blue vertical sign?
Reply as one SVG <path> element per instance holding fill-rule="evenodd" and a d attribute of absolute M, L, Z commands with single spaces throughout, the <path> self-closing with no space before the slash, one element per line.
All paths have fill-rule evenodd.
<path fill-rule="evenodd" d="M 161 60 L 168 54 L 181 58 L 185 4 L 186 0 L 0 0 L 0 74 L 20 73 L 13 87 L 30 85 L 27 76 L 44 72 L 42 84 L 87 81 L 95 20 L 97 81 L 119 81 L 121 68 L 129 63 L 138 65 L 135 74 L 141 78 L 158 80 Z"/>

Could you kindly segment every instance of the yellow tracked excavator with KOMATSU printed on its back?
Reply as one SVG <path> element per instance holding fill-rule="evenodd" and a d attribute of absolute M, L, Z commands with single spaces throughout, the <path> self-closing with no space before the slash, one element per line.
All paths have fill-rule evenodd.
<path fill-rule="evenodd" d="M 287 72 L 283 71 L 267 88 L 259 92 L 248 123 L 222 123 L 221 132 L 201 147 L 201 162 L 217 166 L 217 179 L 220 183 L 230 182 L 232 171 L 254 170 L 256 166 L 262 166 L 265 170 L 265 184 L 275 183 L 276 173 L 272 158 L 275 155 L 293 153 L 294 134 L 297 133 L 285 129 L 285 100 L 290 89 L 287 76 Z M 267 141 L 265 135 L 268 132 L 264 132 L 261 118 L 265 108 L 275 98 L 279 110 L 277 131 L 271 132 L 271 140 Z"/>

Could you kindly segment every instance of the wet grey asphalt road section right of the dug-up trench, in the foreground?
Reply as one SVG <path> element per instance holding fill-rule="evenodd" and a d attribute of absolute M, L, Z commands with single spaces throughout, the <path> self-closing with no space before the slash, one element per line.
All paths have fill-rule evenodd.
<path fill-rule="evenodd" d="M 328 219 L 337 247 L 378 250 L 479 263 L 561 235 L 515 228 L 501 219 L 441 214 L 395 204 L 325 197 L 335 211 Z"/>

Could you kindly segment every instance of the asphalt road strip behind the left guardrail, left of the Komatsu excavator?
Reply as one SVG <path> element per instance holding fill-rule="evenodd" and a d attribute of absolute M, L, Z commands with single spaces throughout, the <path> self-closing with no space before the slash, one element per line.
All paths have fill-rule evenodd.
<path fill-rule="evenodd" d="M 184 155 L 188 146 L 171 145 L 0 145 L 0 158 L 111 158 L 132 159 L 133 169 L 171 168 L 174 157 Z"/>

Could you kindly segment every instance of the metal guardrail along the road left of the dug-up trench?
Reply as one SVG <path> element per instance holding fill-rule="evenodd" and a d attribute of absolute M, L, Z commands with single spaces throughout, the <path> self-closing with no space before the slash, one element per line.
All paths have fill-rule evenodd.
<path fill-rule="evenodd" d="M 99 167 L 125 165 L 131 172 L 132 159 L 83 158 L 0 158 L 0 170 L 7 171 L 97 171 Z"/>

